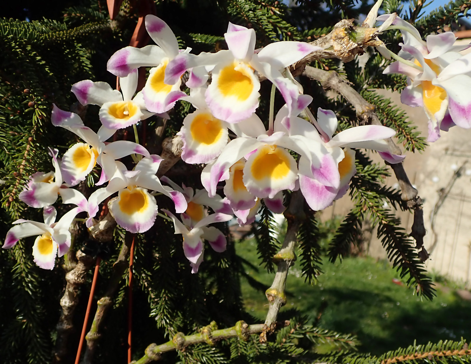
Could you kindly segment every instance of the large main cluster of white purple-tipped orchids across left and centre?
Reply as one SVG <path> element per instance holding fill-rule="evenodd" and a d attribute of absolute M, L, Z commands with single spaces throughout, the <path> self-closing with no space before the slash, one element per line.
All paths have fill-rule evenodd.
<path fill-rule="evenodd" d="M 97 132 L 85 126 L 77 114 L 54 105 L 52 124 L 75 133 L 82 141 L 60 159 L 57 150 L 51 149 L 54 171 L 31 176 L 19 198 L 30 207 L 43 208 L 44 223 L 16 220 L 3 248 L 11 248 L 21 238 L 38 236 L 33 246 L 34 261 L 52 269 L 56 256 L 64 255 L 71 245 L 69 226 L 75 216 L 86 213 L 86 226 L 92 227 L 99 205 L 108 203 L 107 199 L 117 193 L 108 203 L 116 223 L 138 233 L 149 230 L 157 215 L 171 220 L 175 233 L 183 236 L 183 251 L 193 272 L 197 272 L 203 261 L 203 240 L 217 252 L 226 249 L 224 234 L 208 225 L 229 221 L 234 215 L 239 224 L 252 223 L 262 199 L 270 210 L 282 213 L 283 191 L 288 190 L 300 189 L 313 210 L 330 206 L 346 193 L 356 172 L 355 152 L 350 148 L 376 150 L 390 163 L 403 160 L 388 148 L 385 139 L 395 134 L 388 127 L 363 125 L 335 134 L 337 118 L 333 111 L 318 108 L 317 118 L 312 115 L 308 108 L 312 97 L 302 94 L 287 67 L 318 47 L 279 41 L 255 50 L 255 31 L 229 23 L 224 34 L 228 50 L 195 55 L 191 49 L 179 50 L 177 38 L 162 19 L 147 15 L 145 25 L 157 45 L 125 47 L 107 63 L 108 71 L 119 77 L 121 91 L 90 80 L 72 87 L 82 105 L 100 107 L 102 126 Z M 416 67 L 409 67 L 415 72 L 410 73 L 411 77 L 422 84 L 430 83 L 424 59 L 435 58 L 415 55 L 409 48 L 406 50 L 423 63 L 423 74 L 427 74 L 419 76 Z M 136 93 L 138 67 L 151 68 L 146 85 Z M 189 94 L 181 91 L 186 72 Z M 268 127 L 255 113 L 260 103 L 261 78 L 272 83 Z M 435 80 L 448 88 L 449 78 Z M 413 83 L 410 94 L 414 94 L 412 87 L 419 86 Z M 276 90 L 285 105 L 275 116 Z M 150 154 L 138 142 L 108 142 L 118 129 L 131 125 L 138 141 L 136 124 L 155 114 L 168 118 L 167 112 L 179 100 L 190 102 L 196 109 L 185 117 L 178 135 L 183 141 L 182 160 L 205 165 L 201 173 L 203 190 L 179 186 L 167 177 L 159 180 L 156 173 L 162 158 Z M 449 105 L 454 117 L 451 101 Z M 119 161 L 126 156 L 134 160 L 131 170 Z M 96 184 L 107 184 L 86 199 L 73 186 L 84 181 L 97 164 L 101 176 Z M 219 182 L 225 182 L 224 198 L 217 193 Z M 158 212 L 156 194 L 173 201 L 180 219 L 168 210 L 162 210 L 166 216 Z M 76 207 L 55 223 L 57 213 L 52 205 L 59 195 L 62 203 Z M 213 213 L 209 214 L 208 208 Z"/>

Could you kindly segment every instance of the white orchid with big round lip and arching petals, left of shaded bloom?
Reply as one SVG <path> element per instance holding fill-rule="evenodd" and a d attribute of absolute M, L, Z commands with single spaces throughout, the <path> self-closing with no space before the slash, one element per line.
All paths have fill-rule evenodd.
<path fill-rule="evenodd" d="M 142 158 L 133 171 L 128 171 L 121 162 L 117 163 L 114 176 L 105 188 L 96 190 L 88 199 L 89 219 L 98 212 L 98 205 L 107 197 L 118 192 L 118 199 L 110 205 L 110 212 L 116 223 L 129 232 L 146 232 L 154 225 L 158 208 L 154 196 L 147 190 L 161 192 L 172 199 L 175 211 L 183 213 L 187 210 L 187 201 L 183 194 L 170 187 L 162 186 L 155 175 L 163 159 L 155 154 Z"/>

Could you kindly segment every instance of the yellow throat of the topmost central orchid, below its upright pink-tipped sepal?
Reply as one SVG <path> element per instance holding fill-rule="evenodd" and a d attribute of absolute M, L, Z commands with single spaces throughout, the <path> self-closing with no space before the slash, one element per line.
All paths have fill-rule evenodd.
<path fill-rule="evenodd" d="M 218 81 L 219 91 L 238 101 L 248 99 L 253 90 L 252 77 L 244 67 L 237 66 L 237 63 L 224 67 L 219 73 Z"/>

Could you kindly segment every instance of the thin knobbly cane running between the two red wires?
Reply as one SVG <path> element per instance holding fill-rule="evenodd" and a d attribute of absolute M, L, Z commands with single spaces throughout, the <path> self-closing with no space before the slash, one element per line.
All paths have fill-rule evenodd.
<path fill-rule="evenodd" d="M 90 331 L 85 336 L 87 340 L 87 349 L 82 359 L 82 364 L 91 364 L 93 361 L 93 356 L 97 348 L 98 339 L 101 337 L 100 328 L 105 318 L 105 315 L 108 309 L 113 304 L 113 297 L 118 290 L 119 283 L 122 280 L 124 272 L 128 268 L 127 257 L 130 252 L 132 243 L 132 234 L 127 233 L 124 237 L 124 242 L 122 243 L 121 250 L 119 253 L 116 262 L 113 265 L 113 274 L 110 277 L 108 282 L 108 288 L 105 295 L 100 298 L 97 302 L 97 312 L 93 318 Z"/>

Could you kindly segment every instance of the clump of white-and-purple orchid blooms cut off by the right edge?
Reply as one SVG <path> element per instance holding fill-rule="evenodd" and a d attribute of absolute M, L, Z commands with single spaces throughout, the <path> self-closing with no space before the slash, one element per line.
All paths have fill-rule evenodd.
<path fill-rule="evenodd" d="M 382 15 L 377 20 L 386 18 Z M 471 56 L 458 53 L 470 45 L 454 45 L 456 37 L 452 32 L 428 35 L 427 41 L 422 41 L 417 29 L 399 17 L 387 29 L 399 29 L 404 44 L 399 60 L 383 73 L 408 77 L 401 101 L 424 108 L 430 120 L 427 141 L 436 141 L 440 130 L 448 131 L 455 124 L 471 128 Z"/>

